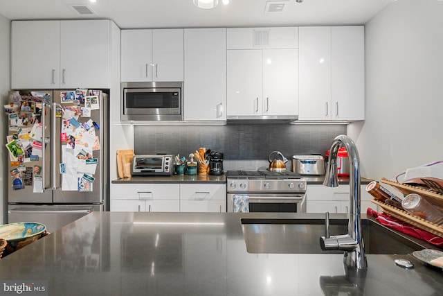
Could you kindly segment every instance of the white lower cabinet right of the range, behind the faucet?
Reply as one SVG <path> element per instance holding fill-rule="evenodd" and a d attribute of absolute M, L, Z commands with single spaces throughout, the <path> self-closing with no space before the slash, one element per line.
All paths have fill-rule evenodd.
<path fill-rule="evenodd" d="M 377 205 L 370 202 L 372 196 L 366 192 L 366 185 L 361 185 L 361 214 L 366 214 L 368 207 L 377 211 Z M 307 186 L 306 211 L 307 213 L 349 213 L 350 186 L 340 185 L 329 188 L 323 185 Z"/>

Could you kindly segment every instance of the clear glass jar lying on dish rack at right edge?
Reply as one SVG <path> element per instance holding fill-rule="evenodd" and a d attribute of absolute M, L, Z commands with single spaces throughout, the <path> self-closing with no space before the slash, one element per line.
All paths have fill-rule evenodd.
<path fill-rule="evenodd" d="M 401 207 L 415 216 L 437 225 L 443 225 L 443 213 L 417 193 L 406 195 L 406 198 L 401 202 Z"/>

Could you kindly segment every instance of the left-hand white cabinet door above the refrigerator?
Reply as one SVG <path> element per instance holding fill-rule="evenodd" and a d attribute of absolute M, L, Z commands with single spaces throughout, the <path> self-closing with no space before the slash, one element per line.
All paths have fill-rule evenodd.
<path fill-rule="evenodd" d="M 59 80 L 60 21 L 12 21 L 12 89 L 54 89 Z"/>

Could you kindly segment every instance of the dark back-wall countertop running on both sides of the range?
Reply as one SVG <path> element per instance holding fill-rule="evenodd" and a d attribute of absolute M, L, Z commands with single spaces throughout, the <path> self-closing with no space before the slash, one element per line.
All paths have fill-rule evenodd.
<path fill-rule="evenodd" d="M 307 184 L 323 184 L 325 176 L 303 176 L 307 180 Z M 361 178 L 361 184 L 368 184 L 372 180 Z M 168 183 L 226 183 L 226 174 L 224 175 L 171 175 L 171 176 L 152 176 L 142 177 L 134 176 L 121 178 L 111 181 L 113 184 L 129 184 L 129 183 L 150 183 L 150 184 L 168 184 Z M 338 182 L 341 184 L 349 184 L 349 177 L 339 177 Z"/>

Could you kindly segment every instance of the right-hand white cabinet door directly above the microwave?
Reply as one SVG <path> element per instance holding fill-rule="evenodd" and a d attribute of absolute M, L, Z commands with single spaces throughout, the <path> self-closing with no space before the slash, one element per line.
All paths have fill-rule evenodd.
<path fill-rule="evenodd" d="M 152 80 L 183 81 L 183 29 L 152 31 Z"/>

